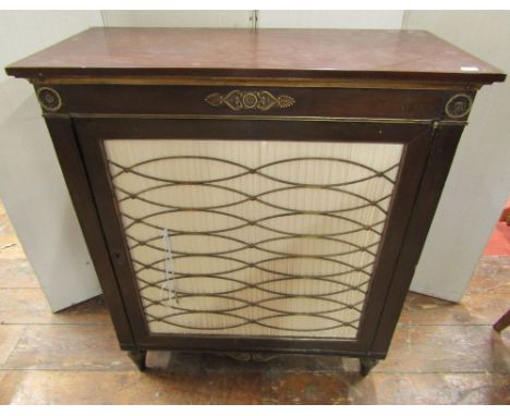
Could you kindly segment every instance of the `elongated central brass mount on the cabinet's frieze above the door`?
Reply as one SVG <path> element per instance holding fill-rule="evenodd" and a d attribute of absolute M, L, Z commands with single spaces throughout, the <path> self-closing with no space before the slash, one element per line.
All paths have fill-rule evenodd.
<path fill-rule="evenodd" d="M 241 91 L 234 89 L 227 95 L 214 93 L 205 98 L 205 101 L 212 107 L 227 106 L 234 111 L 259 110 L 267 111 L 272 107 L 288 108 L 294 105 L 295 99 L 291 96 L 274 96 L 269 91 Z"/>

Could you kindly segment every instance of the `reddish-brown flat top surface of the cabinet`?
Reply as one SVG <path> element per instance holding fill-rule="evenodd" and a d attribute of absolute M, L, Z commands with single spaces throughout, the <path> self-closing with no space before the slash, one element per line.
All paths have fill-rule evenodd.
<path fill-rule="evenodd" d="M 27 78 L 229 76 L 503 81 L 422 30 L 94 27 L 7 68 Z"/>

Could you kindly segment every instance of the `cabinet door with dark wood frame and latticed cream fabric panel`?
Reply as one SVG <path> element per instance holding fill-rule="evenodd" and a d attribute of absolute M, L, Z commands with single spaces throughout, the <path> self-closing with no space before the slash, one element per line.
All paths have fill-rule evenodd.
<path fill-rule="evenodd" d="M 138 343 L 369 350 L 430 125 L 75 125 Z"/>

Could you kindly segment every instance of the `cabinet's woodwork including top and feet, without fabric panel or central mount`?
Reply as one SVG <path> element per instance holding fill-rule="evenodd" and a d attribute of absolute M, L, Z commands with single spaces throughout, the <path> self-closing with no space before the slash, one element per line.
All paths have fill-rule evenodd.
<path fill-rule="evenodd" d="M 355 356 L 364 374 L 388 352 L 475 91 L 506 76 L 398 30 L 93 28 L 7 71 L 36 86 L 120 345 L 138 367 L 146 350 L 171 348 Z M 235 111 L 205 100 L 231 90 L 295 102 Z M 101 145 L 144 137 L 404 144 L 359 339 L 149 334 Z"/>

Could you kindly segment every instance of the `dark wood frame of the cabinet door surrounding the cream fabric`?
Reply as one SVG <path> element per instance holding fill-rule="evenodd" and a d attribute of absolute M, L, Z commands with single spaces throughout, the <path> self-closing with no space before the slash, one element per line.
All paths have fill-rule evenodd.
<path fill-rule="evenodd" d="M 377 318 L 385 301 L 391 280 L 392 268 L 397 260 L 405 225 L 412 209 L 420 178 L 425 166 L 427 149 L 432 137 L 430 125 L 388 124 L 384 123 L 320 123 L 320 122 L 276 122 L 276 121 L 218 121 L 218 120 L 76 120 L 76 133 L 83 150 L 84 161 L 89 172 L 90 184 L 96 195 L 99 216 L 111 253 L 118 253 L 113 261 L 123 293 L 127 315 L 133 325 L 136 343 L 143 347 L 153 345 L 175 350 L 201 347 L 207 350 L 233 350 L 239 347 L 242 337 L 215 335 L 212 345 L 210 335 L 149 334 L 143 316 L 142 301 L 132 270 L 127 243 L 119 221 L 107 163 L 102 154 L 102 138 L 189 138 L 189 139 L 256 139 L 266 140 L 327 140 L 327 142 L 376 142 L 405 144 L 402 168 L 396 185 L 396 195 L 384 231 L 373 284 L 369 289 L 359 338 L 356 341 L 342 339 L 298 339 L 246 338 L 250 350 L 271 352 L 289 351 L 359 351 L 367 353 L 373 333 L 377 328 Z M 136 126 L 136 127 L 134 127 Z"/>

